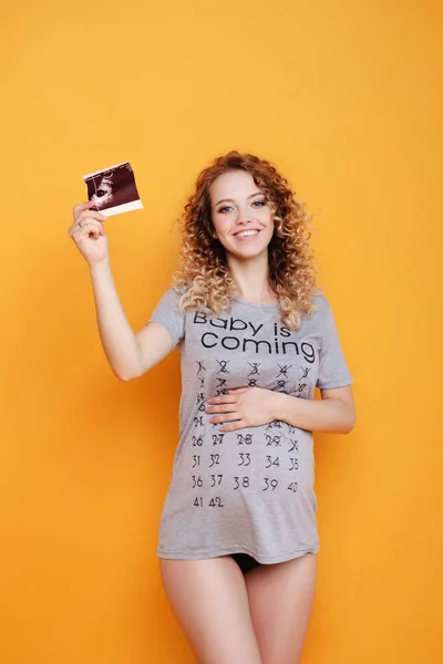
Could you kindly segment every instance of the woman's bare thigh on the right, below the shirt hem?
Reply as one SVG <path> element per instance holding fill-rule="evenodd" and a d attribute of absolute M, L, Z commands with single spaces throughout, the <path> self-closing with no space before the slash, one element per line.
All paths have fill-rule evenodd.
<path fill-rule="evenodd" d="M 317 556 L 261 564 L 245 577 L 262 664 L 298 664 L 317 579 Z"/>

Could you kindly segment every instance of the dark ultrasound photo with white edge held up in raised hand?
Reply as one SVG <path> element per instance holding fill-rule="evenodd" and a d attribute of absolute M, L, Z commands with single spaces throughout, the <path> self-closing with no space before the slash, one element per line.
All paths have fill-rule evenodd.
<path fill-rule="evenodd" d="M 143 208 L 128 162 L 83 175 L 87 198 L 94 203 L 92 210 L 105 217 Z"/>

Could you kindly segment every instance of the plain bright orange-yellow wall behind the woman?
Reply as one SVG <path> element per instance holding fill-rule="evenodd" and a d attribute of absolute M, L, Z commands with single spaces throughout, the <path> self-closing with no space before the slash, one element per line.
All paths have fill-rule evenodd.
<path fill-rule="evenodd" d="M 81 176 L 128 159 L 145 207 L 106 229 L 138 329 L 197 173 L 231 148 L 275 162 L 313 212 L 356 380 L 352 434 L 316 435 L 303 664 L 443 661 L 441 4 L 49 0 L 2 14 L 1 662 L 193 662 L 155 553 L 178 355 L 113 376 L 66 231 Z"/>

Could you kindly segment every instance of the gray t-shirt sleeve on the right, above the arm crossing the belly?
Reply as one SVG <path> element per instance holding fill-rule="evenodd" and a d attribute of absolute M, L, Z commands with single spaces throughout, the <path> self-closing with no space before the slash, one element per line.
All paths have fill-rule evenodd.
<path fill-rule="evenodd" d="M 324 313 L 322 317 L 321 349 L 319 352 L 320 365 L 317 386 L 320 390 L 344 387 L 346 385 L 351 385 L 353 378 L 344 359 L 331 307 L 324 295 L 322 295 L 322 300 Z"/>

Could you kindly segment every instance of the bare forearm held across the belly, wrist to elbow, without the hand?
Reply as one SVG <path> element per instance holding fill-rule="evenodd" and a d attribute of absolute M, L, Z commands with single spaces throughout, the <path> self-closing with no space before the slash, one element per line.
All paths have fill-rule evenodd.
<path fill-rule="evenodd" d="M 349 434 L 354 414 L 339 398 L 310 400 L 275 393 L 275 418 L 309 432 Z"/>

